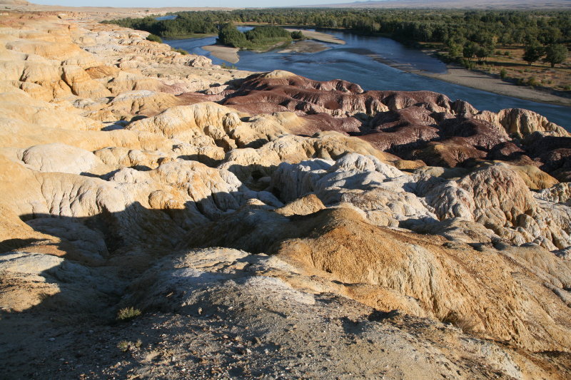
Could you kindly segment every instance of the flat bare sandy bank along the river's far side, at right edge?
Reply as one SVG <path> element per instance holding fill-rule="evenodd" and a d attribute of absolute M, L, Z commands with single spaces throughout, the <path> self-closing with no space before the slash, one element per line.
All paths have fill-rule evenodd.
<path fill-rule="evenodd" d="M 514 98 L 525 99 L 527 101 L 550 103 L 557 106 L 571 106 L 571 98 L 538 91 L 530 87 L 517 86 L 515 84 L 502 81 L 501 78 L 468 70 L 460 66 L 450 64 L 446 66 L 448 68 L 447 73 L 428 73 L 427 71 L 415 71 L 415 73 L 421 76 L 435 78 L 440 81 L 475 88 L 476 90 L 487 91 L 490 93 L 497 93 L 499 95 L 512 96 Z"/>

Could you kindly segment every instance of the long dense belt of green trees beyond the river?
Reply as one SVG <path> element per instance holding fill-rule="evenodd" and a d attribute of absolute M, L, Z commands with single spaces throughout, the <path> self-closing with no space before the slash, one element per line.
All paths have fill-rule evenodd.
<path fill-rule="evenodd" d="M 563 49 L 571 43 L 571 11 L 240 9 L 178 12 L 176 15 L 176 19 L 171 20 L 146 17 L 106 22 L 161 37 L 218 33 L 228 23 L 348 29 L 360 34 L 381 34 L 401 42 L 443 43 L 448 56 L 456 60 L 481 60 L 490 56 L 497 45 L 516 45 L 525 46 L 526 51 L 533 46 L 535 50 L 530 48 L 527 57 L 531 59 L 541 53 L 535 61 L 542 56 L 551 59 L 550 62 L 560 61 L 552 58 L 560 58 Z M 237 43 L 247 43 L 236 32 L 228 33 L 237 38 Z"/>

